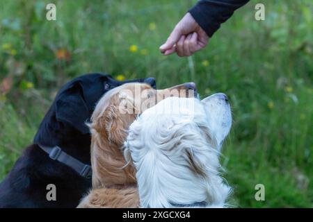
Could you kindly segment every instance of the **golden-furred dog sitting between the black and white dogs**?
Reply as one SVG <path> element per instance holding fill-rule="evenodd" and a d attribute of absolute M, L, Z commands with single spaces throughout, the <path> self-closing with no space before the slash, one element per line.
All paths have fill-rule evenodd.
<path fill-rule="evenodd" d="M 178 94 L 171 94 L 172 89 L 177 89 Z M 102 96 L 89 123 L 93 189 L 78 207 L 138 206 L 136 172 L 121 150 L 127 130 L 138 114 L 151 105 L 168 96 L 186 96 L 185 92 L 184 85 L 156 90 L 143 83 L 127 83 Z"/>

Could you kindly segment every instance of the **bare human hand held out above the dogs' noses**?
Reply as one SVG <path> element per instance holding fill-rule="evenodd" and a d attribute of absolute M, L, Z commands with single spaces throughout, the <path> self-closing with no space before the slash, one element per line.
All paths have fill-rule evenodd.
<path fill-rule="evenodd" d="M 175 26 L 168 40 L 160 46 L 161 53 L 168 56 L 177 53 L 178 56 L 191 56 L 196 51 L 203 49 L 209 37 L 207 33 L 195 22 L 188 12 Z"/>

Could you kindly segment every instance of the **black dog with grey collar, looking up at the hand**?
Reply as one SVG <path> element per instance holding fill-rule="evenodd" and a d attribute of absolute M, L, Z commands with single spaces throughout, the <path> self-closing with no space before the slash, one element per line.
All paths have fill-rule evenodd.
<path fill-rule="evenodd" d="M 85 123 L 104 93 L 130 82 L 156 87 L 154 78 L 118 81 L 106 74 L 86 74 L 64 85 L 33 144 L 1 182 L 0 207 L 77 207 L 91 187 Z"/>

